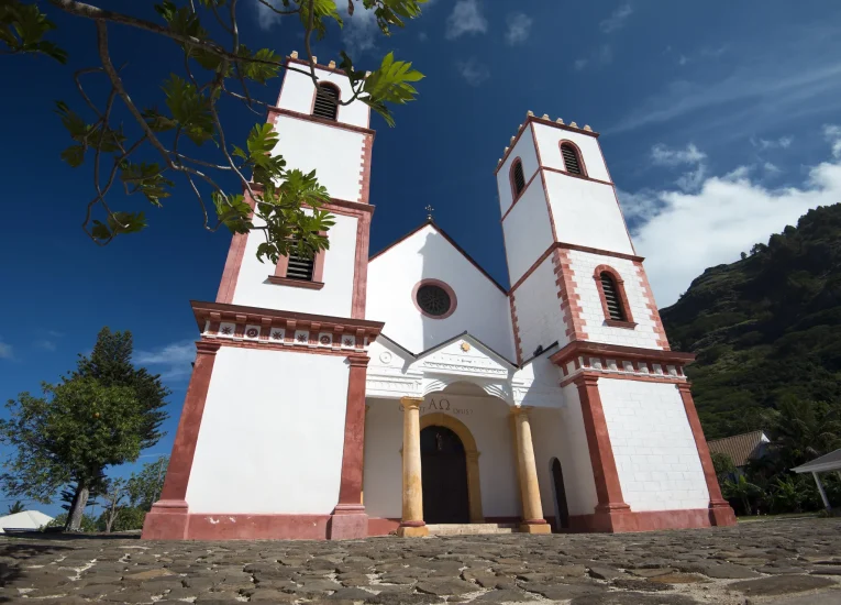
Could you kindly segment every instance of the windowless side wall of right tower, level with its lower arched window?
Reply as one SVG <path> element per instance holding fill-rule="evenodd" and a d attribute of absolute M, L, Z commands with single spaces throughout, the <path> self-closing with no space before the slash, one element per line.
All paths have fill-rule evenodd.
<path fill-rule="evenodd" d="M 523 360 L 531 358 L 539 345 L 545 349 L 554 341 L 561 346 L 569 342 L 551 256 L 520 284 L 513 298 Z"/>

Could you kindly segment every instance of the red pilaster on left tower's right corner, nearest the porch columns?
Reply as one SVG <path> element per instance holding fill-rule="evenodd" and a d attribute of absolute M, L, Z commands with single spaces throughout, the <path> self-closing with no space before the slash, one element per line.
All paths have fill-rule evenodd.
<path fill-rule="evenodd" d="M 362 473 L 365 447 L 365 378 L 369 360 L 367 355 L 350 355 L 347 361 L 351 369 L 344 419 L 342 480 L 339 504 L 330 520 L 328 537 L 331 540 L 365 538 L 368 535 L 368 516 L 362 504 Z"/>

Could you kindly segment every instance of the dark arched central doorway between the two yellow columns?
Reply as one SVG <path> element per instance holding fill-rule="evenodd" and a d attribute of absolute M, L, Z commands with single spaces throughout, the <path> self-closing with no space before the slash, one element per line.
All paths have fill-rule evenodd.
<path fill-rule="evenodd" d="M 455 431 L 432 425 L 421 430 L 423 520 L 428 524 L 471 521 L 467 457 Z"/>

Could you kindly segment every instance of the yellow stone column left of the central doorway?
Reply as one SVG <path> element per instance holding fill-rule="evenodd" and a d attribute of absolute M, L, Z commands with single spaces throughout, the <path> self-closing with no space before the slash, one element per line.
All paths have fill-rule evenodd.
<path fill-rule="evenodd" d="M 420 460 L 420 406 L 423 397 L 402 397 L 403 407 L 403 514 L 397 535 L 428 536 L 423 522 L 423 484 Z"/>

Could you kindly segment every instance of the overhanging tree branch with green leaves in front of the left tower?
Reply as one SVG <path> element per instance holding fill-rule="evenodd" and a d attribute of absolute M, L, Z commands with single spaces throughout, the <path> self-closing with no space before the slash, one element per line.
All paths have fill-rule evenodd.
<path fill-rule="evenodd" d="M 279 77 L 284 69 L 305 74 L 318 86 L 312 36 L 323 38 L 330 24 L 341 28 L 343 20 L 334 0 L 258 1 L 284 18 L 300 21 L 307 52 L 303 64 L 290 63 L 272 48 L 248 48 L 240 34 L 243 2 L 237 0 L 163 0 L 154 4 L 158 21 L 76 0 L 0 0 L 3 54 L 35 53 L 66 63 L 68 54 L 48 40 L 56 29 L 48 11 L 96 24 L 100 64 L 74 74 L 81 109 L 73 109 L 66 101 L 56 105 L 73 140 L 62 158 L 74 167 L 92 164 L 93 195 L 86 201 L 82 229 L 93 242 L 107 245 L 119 235 L 147 227 L 145 212 L 112 207 L 109 200 L 114 188 L 128 196 L 143 196 L 161 208 L 175 191 L 178 178 L 196 198 L 204 229 L 215 231 L 224 226 L 233 233 L 262 232 L 261 260 L 276 263 L 278 256 L 292 251 L 312 256 L 329 248 L 322 233 L 334 223 L 323 209 L 330 194 L 319 184 L 316 172 L 287 168 L 270 124 L 257 123 L 243 144 L 234 144 L 232 141 L 241 136 L 225 133 L 219 102 L 233 99 L 245 110 L 262 114 L 269 106 L 254 98 L 253 87 Z M 355 4 L 361 4 L 373 11 L 381 34 L 388 36 L 394 28 L 420 16 L 425 1 L 347 0 L 347 10 L 353 14 Z M 142 3 L 130 6 L 136 4 Z M 204 26 L 210 20 L 221 28 L 223 36 L 210 34 Z M 129 70 L 115 66 L 111 57 L 109 34 L 120 28 L 177 43 L 179 56 L 174 56 L 171 76 L 162 86 L 166 109 L 137 107 L 133 101 Z M 412 69 L 411 63 L 396 61 L 392 53 L 374 72 L 357 69 L 345 52 L 341 59 L 339 67 L 353 94 L 332 102 L 363 102 L 394 125 L 389 107 L 417 97 L 412 85 L 423 75 Z M 97 100 L 86 89 L 92 78 L 107 85 L 107 92 L 100 92 Z M 133 128 L 118 118 L 123 112 L 130 116 Z M 208 150 L 213 150 L 218 160 L 204 157 Z M 231 177 L 239 182 L 234 189 L 228 185 Z"/>

